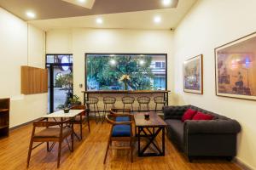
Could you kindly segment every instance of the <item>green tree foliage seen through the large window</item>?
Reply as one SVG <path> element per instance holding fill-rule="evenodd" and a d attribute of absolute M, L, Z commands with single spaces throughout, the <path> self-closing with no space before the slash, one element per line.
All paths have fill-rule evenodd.
<path fill-rule="evenodd" d="M 154 74 L 150 68 L 150 56 L 116 55 L 116 56 L 87 56 L 87 88 L 89 90 L 121 90 L 124 82 L 120 77 L 128 75 L 128 89 L 149 90 L 153 89 L 151 81 Z M 92 83 L 94 82 L 94 83 Z"/>

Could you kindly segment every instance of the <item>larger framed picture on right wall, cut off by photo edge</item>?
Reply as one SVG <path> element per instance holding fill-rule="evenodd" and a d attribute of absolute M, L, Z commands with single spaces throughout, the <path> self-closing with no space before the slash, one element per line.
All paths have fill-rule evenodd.
<path fill-rule="evenodd" d="M 256 32 L 215 48 L 216 95 L 256 99 Z"/>

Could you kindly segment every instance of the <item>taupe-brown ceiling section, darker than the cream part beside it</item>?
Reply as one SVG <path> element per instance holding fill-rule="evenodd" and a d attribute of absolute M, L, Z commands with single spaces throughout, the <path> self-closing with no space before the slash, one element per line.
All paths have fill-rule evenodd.
<path fill-rule="evenodd" d="M 0 0 L 0 6 L 22 20 L 30 20 L 26 16 L 27 10 L 37 14 L 36 20 L 66 18 L 75 16 L 114 14 L 132 11 L 143 11 L 165 8 L 161 0 L 96 0 L 92 8 L 84 8 L 76 2 L 79 0 Z M 166 8 L 175 8 L 178 0 Z M 84 0 L 91 3 L 91 0 Z M 85 4 L 85 3 L 84 3 Z"/>

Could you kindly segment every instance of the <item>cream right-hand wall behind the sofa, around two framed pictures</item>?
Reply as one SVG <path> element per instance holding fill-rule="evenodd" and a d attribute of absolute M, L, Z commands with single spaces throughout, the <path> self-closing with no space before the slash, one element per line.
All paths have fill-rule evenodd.
<path fill-rule="evenodd" d="M 256 101 L 215 95 L 214 48 L 256 30 L 255 0 L 199 0 L 177 27 L 175 93 L 179 105 L 197 105 L 241 123 L 237 158 L 256 169 Z M 204 55 L 204 94 L 183 93 L 183 60 Z"/>

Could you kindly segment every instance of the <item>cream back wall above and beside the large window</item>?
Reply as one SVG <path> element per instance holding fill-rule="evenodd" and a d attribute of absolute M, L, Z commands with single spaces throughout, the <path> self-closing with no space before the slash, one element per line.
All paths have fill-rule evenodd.
<path fill-rule="evenodd" d="M 168 89 L 173 87 L 172 31 L 73 29 L 47 31 L 47 54 L 73 54 L 74 93 L 82 99 L 85 53 L 168 54 Z M 172 96 L 172 95 L 171 95 Z M 172 97 L 170 98 L 172 102 Z"/>

